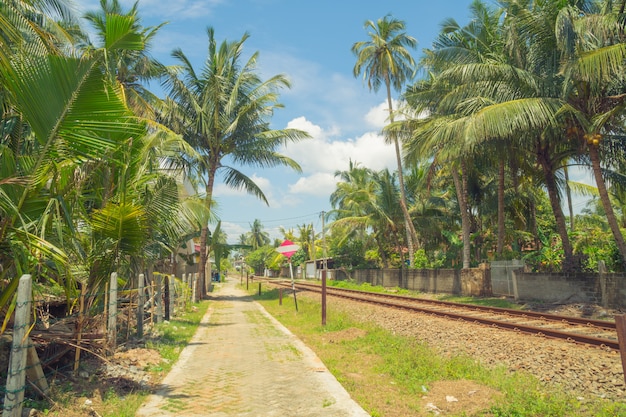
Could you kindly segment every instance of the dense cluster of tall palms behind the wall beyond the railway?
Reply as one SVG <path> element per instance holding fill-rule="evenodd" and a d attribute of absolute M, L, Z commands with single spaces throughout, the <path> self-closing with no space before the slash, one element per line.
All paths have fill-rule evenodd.
<path fill-rule="evenodd" d="M 414 44 L 403 22 L 366 22 L 370 40 L 353 46 L 354 73 L 363 72 L 372 89 L 387 87 L 383 133 L 402 146 L 395 176 L 357 164 L 338 173 L 331 197 L 336 250 L 342 240 L 367 235 L 379 265 L 390 256 L 415 264 L 426 254 L 431 263 L 468 268 L 550 247 L 560 251 L 560 268 L 578 269 L 568 181 L 576 166 L 593 174 L 597 188 L 586 192 L 601 203 L 614 267 L 623 269 L 624 3 L 475 0 L 467 25 L 442 23 L 412 67 L 421 74 L 414 80 Z M 395 111 L 391 87 L 402 92 Z"/>

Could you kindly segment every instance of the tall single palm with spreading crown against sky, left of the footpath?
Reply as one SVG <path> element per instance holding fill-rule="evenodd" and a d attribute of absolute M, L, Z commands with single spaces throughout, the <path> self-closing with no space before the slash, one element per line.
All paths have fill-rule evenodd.
<path fill-rule="evenodd" d="M 162 116 L 163 122 L 182 134 L 202 155 L 191 168 L 204 182 L 207 207 L 211 207 L 218 172 L 227 186 L 243 189 L 267 203 L 262 190 L 235 166 L 284 165 L 299 171 L 300 166 L 294 160 L 276 150 L 308 135 L 296 129 L 270 129 L 268 119 L 281 107 L 277 102 L 278 90 L 289 87 L 289 82 L 283 75 L 262 80 L 256 73 L 258 52 L 242 63 L 248 34 L 219 46 L 212 28 L 207 34 L 208 56 L 201 72 L 196 72 L 180 49 L 172 53 L 180 63 L 180 70 L 164 83 L 172 108 Z M 207 232 L 205 224 L 200 235 L 200 298 L 204 297 L 205 288 Z"/>

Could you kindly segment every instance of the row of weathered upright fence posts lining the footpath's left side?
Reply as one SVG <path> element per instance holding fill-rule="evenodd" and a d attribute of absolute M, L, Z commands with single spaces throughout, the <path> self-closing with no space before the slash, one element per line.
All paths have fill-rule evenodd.
<path fill-rule="evenodd" d="M 118 275 L 114 272 L 111 274 L 103 294 L 87 294 L 86 286 L 82 287 L 76 317 L 76 330 L 70 335 L 66 334 L 67 338 L 74 341 L 74 343 L 69 344 L 71 350 L 75 349 L 74 373 L 79 370 L 81 351 L 87 350 L 85 347 L 87 340 L 96 339 L 93 335 L 85 332 L 88 318 L 87 300 L 104 296 L 105 301 L 102 306 L 104 309 L 103 317 L 106 318 L 106 332 L 103 337 L 105 341 L 104 350 L 107 355 L 115 353 L 120 337 L 118 333 L 121 328 L 121 320 L 118 319 L 121 314 L 124 314 L 119 308 L 120 302 L 124 302 L 127 306 L 127 315 L 124 317 L 127 339 L 131 333 L 131 314 L 134 308 L 136 308 L 135 335 L 141 339 L 146 322 L 153 324 L 170 320 L 176 311 L 184 311 L 190 303 L 196 302 L 197 273 L 183 274 L 182 279 L 176 279 L 167 274 L 154 273 L 147 280 L 144 274 L 140 274 L 136 281 L 136 288 L 118 291 Z M 36 324 L 31 324 L 33 308 L 32 278 L 30 275 L 23 275 L 18 284 L 13 330 L 0 338 L 0 342 L 3 342 L 0 343 L 0 346 L 3 344 L 10 345 L 8 351 L 0 351 L 2 366 L 4 367 L 8 362 L 2 417 L 19 417 L 22 415 L 27 388 L 31 388 L 41 396 L 45 396 L 49 389 L 37 350 L 33 340 L 29 337 Z M 10 315 L 10 311 L 8 315 Z M 70 349 L 65 350 L 64 353 L 68 353 Z"/>

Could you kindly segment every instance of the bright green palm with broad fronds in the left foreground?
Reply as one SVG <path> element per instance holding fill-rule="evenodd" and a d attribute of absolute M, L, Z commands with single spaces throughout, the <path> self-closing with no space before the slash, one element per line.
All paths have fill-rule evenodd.
<path fill-rule="evenodd" d="M 67 57 L 58 50 L 48 52 L 37 41 L 18 42 L 7 50 L 12 55 L 0 59 L 0 78 L 12 101 L 5 106 L 10 113 L 3 114 L 3 121 L 19 120 L 24 129 L 20 147 L 0 150 L 0 159 L 16 162 L 3 173 L 9 181 L 0 180 L 3 274 L 13 276 L 12 282 L 24 272 L 47 275 L 69 290 L 85 273 L 84 254 L 77 248 L 95 213 L 78 182 L 94 165 L 120 168 L 118 163 L 127 162 L 120 149 L 128 148 L 129 137 L 136 138 L 138 146 L 145 126 L 126 107 L 119 84 L 103 79 L 101 56 Z M 88 192 L 93 196 L 97 190 Z M 116 213 L 118 218 L 140 218 L 132 209 Z M 33 252 L 41 254 L 35 262 L 22 256 Z M 46 267 L 49 262 L 55 268 Z M 1 298 L 12 291 L 10 285 Z"/>

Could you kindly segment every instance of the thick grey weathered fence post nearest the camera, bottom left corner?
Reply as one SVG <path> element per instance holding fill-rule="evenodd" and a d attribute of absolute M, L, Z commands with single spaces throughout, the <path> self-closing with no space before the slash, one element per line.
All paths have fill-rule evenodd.
<path fill-rule="evenodd" d="M 24 389 L 26 387 L 27 330 L 30 327 L 32 285 L 30 275 L 21 276 L 17 287 L 13 342 L 7 371 L 2 417 L 20 417 L 22 415 L 22 403 L 24 402 Z"/>

